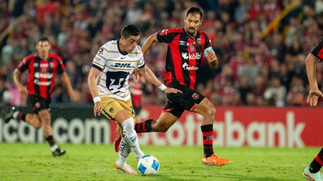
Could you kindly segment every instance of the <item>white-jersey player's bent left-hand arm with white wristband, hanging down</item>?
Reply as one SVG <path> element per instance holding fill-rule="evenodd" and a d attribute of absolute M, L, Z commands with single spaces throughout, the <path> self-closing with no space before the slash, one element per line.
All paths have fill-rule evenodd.
<path fill-rule="evenodd" d="M 96 117 L 97 115 L 100 116 L 100 113 L 102 111 L 102 106 L 101 106 L 101 99 L 99 97 L 99 92 L 98 92 L 98 84 L 96 82 L 96 78 L 99 76 L 101 73 L 100 70 L 91 67 L 89 77 L 87 78 L 87 83 L 89 85 L 90 92 L 93 97 L 94 101 L 94 116 Z"/>

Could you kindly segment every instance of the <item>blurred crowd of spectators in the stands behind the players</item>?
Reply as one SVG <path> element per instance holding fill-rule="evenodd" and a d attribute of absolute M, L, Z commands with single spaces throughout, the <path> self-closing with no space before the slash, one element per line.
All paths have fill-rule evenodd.
<path fill-rule="evenodd" d="M 273 30 L 265 30 L 294 0 L 0 0 L 0 101 L 24 105 L 12 72 L 36 53 L 45 36 L 52 53 L 62 57 L 81 103 L 92 102 L 87 75 L 99 48 L 120 38 L 125 25 L 142 32 L 140 45 L 158 30 L 183 27 L 185 11 L 203 9 L 201 30 L 209 35 L 219 60 L 216 70 L 206 60 L 196 89 L 215 106 L 305 106 L 309 91 L 305 59 L 321 40 L 323 0 L 303 0 Z M 155 43 L 144 57 L 163 80 L 167 45 Z M 322 90 L 323 63 L 317 63 Z M 27 83 L 27 75 L 22 82 Z M 131 82 L 131 80 L 130 80 Z M 162 105 L 164 93 L 143 79 L 144 105 Z M 52 103 L 69 102 L 60 76 Z M 14 95 L 14 96 L 13 96 Z"/>

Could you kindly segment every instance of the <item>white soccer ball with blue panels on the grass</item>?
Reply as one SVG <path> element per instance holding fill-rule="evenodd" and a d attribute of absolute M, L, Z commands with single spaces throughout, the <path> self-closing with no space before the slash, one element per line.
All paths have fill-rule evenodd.
<path fill-rule="evenodd" d="M 143 175 L 156 175 L 159 170 L 157 158 L 147 154 L 138 161 L 138 170 Z"/>

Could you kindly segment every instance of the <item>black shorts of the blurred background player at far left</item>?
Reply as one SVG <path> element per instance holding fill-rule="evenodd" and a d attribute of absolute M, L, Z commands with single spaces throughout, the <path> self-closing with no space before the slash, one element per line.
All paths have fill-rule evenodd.
<path fill-rule="evenodd" d="M 27 103 L 28 106 L 33 108 L 33 112 L 38 114 L 39 111 L 49 108 L 50 99 L 45 99 L 36 95 L 29 95 Z"/>

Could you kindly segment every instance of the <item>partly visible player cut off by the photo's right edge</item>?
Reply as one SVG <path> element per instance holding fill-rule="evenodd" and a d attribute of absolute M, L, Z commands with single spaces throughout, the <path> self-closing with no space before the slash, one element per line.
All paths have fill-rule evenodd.
<path fill-rule="evenodd" d="M 310 83 L 310 92 L 307 98 L 307 103 L 310 106 L 316 106 L 320 96 L 323 94 L 319 90 L 318 82 L 316 80 L 316 62 L 323 61 L 323 39 L 313 49 L 313 51 L 307 56 L 306 62 L 306 73 L 308 81 Z M 323 181 L 322 173 L 320 169 L 323 166 L 323 148 L 319 154 L 313 159 L 311 164 L 304 169 L 303 178 L 309 181 Z"/>

